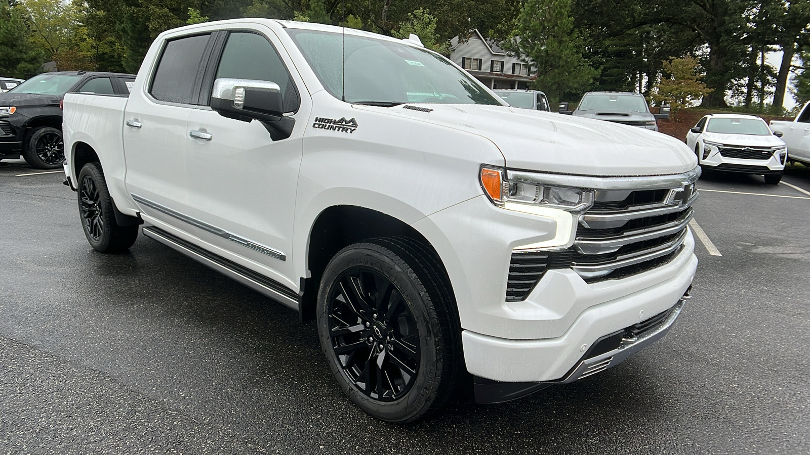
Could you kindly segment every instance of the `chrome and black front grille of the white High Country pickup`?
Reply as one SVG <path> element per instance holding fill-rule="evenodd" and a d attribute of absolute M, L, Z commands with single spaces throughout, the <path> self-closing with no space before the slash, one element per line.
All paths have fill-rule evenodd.
<path fill-rule="evenodd" d="M 684 182 L 680 188 L 597 190 L 594 199 L 579 215 L 571 247 L 512 253 L 506 301 L 525 300 L 547 270 L 571 269 L 595 283 L 670 262 L 683 249 L 697 190 Z"/>

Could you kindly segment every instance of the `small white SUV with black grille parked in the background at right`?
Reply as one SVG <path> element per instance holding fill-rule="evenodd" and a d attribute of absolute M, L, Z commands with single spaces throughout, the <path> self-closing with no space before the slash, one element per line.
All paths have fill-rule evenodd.
<path fill-rule="evenodd" d="M 787 146 L 760 117 L 709 114 L 686 134 L 702 168 L 765 176 L 777 185 L 787 160 Z"/>

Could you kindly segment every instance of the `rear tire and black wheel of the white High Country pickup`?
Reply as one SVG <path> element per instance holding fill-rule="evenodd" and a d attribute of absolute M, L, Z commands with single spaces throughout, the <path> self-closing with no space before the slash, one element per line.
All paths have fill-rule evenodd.
<path fill-rule="evenodd" d="M 138 226 L 119 226 L 113 198 L 98 163 L 87 163 L 79 172 L 79 215 L 87 242 L 101 253 L 121 253 L 138 238 Z"/>

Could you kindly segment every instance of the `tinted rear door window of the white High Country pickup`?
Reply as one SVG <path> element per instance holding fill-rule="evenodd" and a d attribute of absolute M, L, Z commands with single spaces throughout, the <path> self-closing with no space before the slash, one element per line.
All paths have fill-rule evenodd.
<path fill-rule="evenodd" d="M 157 64 L 149 93 L 156 100 L 179 104 L 193 103 L 200 62 L 209 35 L 186 36 L 166 43 Z"/>

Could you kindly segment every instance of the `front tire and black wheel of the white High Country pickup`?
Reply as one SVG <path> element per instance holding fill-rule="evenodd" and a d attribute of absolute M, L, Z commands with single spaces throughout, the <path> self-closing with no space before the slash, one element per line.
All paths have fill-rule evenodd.
<path fill-rule="evenodd" d="M 343 392 L 377 419 L 412 422 L 454 395 L 463 356 L 445 276 L 406 237 L 349 245 L 326 266 L 321 347 Z"/>

